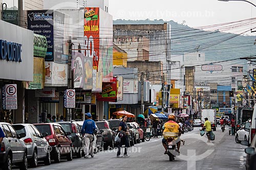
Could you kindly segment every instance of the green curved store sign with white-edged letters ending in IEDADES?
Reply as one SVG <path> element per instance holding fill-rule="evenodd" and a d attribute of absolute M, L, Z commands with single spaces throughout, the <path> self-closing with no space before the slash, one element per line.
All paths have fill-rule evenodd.
<path fill-rule="evenodd" d="M 46 57 L 47 39 L 46 36 L 34 34 L 34 57 Z"/>

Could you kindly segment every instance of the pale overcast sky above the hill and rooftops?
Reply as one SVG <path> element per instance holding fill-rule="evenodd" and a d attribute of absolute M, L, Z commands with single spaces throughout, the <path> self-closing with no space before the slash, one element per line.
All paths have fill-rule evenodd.
<path fill-rule="evenodd" d="M 256 0 L 248 0 L 256 5 Z M 109 0 L 113 19 L 174 20 L 189 27 L 209 26 L 217 23 L 256 17 L 256 7 L 242 1 L 218 0 Z"/>

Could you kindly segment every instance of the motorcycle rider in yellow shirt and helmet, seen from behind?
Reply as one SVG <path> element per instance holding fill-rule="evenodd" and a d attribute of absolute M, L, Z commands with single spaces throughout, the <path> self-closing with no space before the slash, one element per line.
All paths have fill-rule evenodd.
<path fill-rule="evenodd" d="M 176 120 L 176 116 L 174 114 L 170 114 L 168 116 L 168 122 L 166 122 L 163 125 L 162 144 L 163 144 L 163 147 L 165 149 L 164 154 L 168 153 L 168 151 L 167 151 L 167 144 L 166 144 L 168 137 L 173 137 L 175 139 L 176 144 L 177 144 L 178 153 L 180 153 L 180 138 L 179 138 L 179 134 L 181 133 L 181 129 L 180 129 L 179 124 L 177 124 L 175 122 L 175 120 Z"/>

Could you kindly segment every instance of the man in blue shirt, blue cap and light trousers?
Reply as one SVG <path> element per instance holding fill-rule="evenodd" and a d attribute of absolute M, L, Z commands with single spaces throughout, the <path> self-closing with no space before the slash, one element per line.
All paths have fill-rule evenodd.
<path fill-rule="evenodd" d="M 86 120 L 84 120 L 82 125 L 82 135 L 84 135 L 84 158 L 89 158 L 89 149 L 90 155 L 93 158 L 93 133 L 96 129 L 95 122 L 92 120 L 91 113 L 86 113 Z"/>

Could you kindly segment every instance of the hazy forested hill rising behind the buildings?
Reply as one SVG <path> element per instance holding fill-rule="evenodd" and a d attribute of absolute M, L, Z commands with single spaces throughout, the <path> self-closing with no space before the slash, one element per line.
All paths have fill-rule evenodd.
<path fill-rule="evenodd" d="M 205 60 L 223 61 L 250 57 L 256 55 L 256 45 L 253 45 L 256 36 L 244 36 L 214 30 L 216 28 L 225 29 L 227 26 L 212 27 L 210 31 L 190 28 L 179 24 L 173 20 L 122 20 L 113 21 L 116 25 L 131 24 L 163 24 L 167 22 L 171 26 L 171 54 L 184 54 L 197 52 L 205 53 Z M 229 28 L 230 29 L 230 28 Z M 209 29 L 208 29 L 209 30 Z M 248 34 L 249 32 L 247 32 Z M 255 33 L 256 35 L 256 33 Z M 238 62 L 245 60 L 238 60 Z"/>

